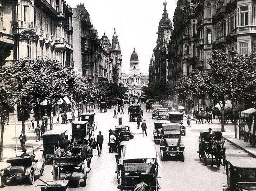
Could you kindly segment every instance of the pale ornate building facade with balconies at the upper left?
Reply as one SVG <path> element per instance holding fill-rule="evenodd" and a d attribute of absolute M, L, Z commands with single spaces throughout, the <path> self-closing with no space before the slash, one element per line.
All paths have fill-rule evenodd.
<path fill-rule="evenodd" d="M 2 0 L 2 30 L 15 46 L 6 58 L 55 58 L 74 67 L 71 7 L 64 0 Z M 11 38 L 12 37 L 12 38 Z"/>

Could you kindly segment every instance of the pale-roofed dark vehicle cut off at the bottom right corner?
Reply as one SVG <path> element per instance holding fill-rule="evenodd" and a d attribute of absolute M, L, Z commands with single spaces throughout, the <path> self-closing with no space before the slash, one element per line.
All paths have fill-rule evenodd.
<path fill-rule="evenodd" d="M 256 159 L 251 157 L 226 158 L 227 184 L 223 191 L 256 190 Z M 224 169 L 225 171 L 225 169 Z"/>

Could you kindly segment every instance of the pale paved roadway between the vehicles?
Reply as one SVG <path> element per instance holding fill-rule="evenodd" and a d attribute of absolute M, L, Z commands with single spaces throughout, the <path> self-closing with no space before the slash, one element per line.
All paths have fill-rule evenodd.
<path fill-rule="evenodd" d="M 146 119 L 148 126 L 148 139 L 152 139 L 152 130 L 154 129 L 155 120 L 151 119 L 151 113 L 145 112 L 145 104 L 142 104 L 142 109 L 144 110 L 144 119 Z M 106 191 L 117 191 L 117 181 L 116 181 L 116 161 L 115 153 L 108 153 L 108 130 L 110 128 L 114 129 L 115 125 L 118 125 L 118 118 L 113 119 L 113 108 L 108 109 L 107 113 L 97 113 L 96 121 L 98 121 L 98 130 L 102 131 L 104 135 L 104 143 L 102 148 L 102 155 L 100 158 L 97 156 L 96 150 L 94 150 L 94 156 L 92 158 L 91 172 L 88 174 L 87 186 L 70 188 L 69 190 L 106 190 Z M 125 114 L 117 115 L 117 117 L 122 117 L 123 124 L 129 124 L 132 133 L 134 133 L 134 138 L 142 136 L 142 130 L 137 130 L 136 122 L 129 122 L 127 114 L 127 105 L 124 107 Z M 185 121 L 184 121 L 185 124 Z M 70 129 L 71 125 L 67 125 L 67 129 Z M 175 190 L 197 190 L 197 191 L 220 191 L 222 190 L 221 184 L 226 183 L 226 175 L 223 174 L 223 166 L 221 166 L 220 171 L 216 170 L 216 164 L 212 167 L 210 165 L 210 160 L 208 160 L 207 166 L 203 162 L 199 161 L 198 157 L 198 140 L 199 133 L 201 130 L 206 130 L 211 127 L 213 130 L 219 130 L 220 124 L 195 124 L 192 121 L 192 127 L 187 128 L 186 136 L 184 138 L 185 142 L 185 162 L 168 160 L 166 162 L 161 162 L 158 175 L 160 176 L 159 184 L 162 187 L 162 191 Z M 56 126 L 55 128 L 58 128 Z M 98 130 L 95 131 L 95 135 L 98 134 Z M 226 142 L 225 146 L 227 148 L 227 157 L 250 157 L 244 151 L 237 149 L 236 147 L 230 145 Z M 136 149 L 136 148 L 134 148 Z M 160 156 L 160 148 L 157 145 Z M 215 161 L 214 161 L 215 162 Z M 45 174 L 41 177 L 44 181 L 52 180 L 52 165 L 48 164 L 45 168 Z M 79 174 L 74 174 L 73 176 L 78 176 Z M 15 182 L 15 184 L 20 184 Z M 40 190 L 40 187 L 35 186 L 37 184 L 43 184 L 40 180 L 36 180 L 34 185 L 14 185 L 1 188 L 3 191 L 13 191 L 13 190 Z"/>

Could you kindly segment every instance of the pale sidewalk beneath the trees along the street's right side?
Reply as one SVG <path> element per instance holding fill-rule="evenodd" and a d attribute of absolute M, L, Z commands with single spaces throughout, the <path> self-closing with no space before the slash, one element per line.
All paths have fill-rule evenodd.
<path fill-rule="evenodd" d="M 213 128 L 212 129 L 220 131 L 221 124 L 219 122 L 219 119 L 212 120 L 212 122 L 213 122 L 212 126 L 214 128 L 214 129 Z M 208 123 L 206 123 L 206 124 L 208 124 Z M 237 126 L 237 137 L 239 137 L 238 129 L 239 129 L 239 127 Z M 247 152 L 253 158 L 256 158 L 256 147 L 252 147 L 249 142 L 248 143 L 244 142 L 244 139 L 235 138 L 235 127 L 231 122 L 229 122 L 228 124 L 225 124 L 225 132 L 222 132 L 222 137 L 229 143 L 231 143 L 231 144 L 235 145 L 236 147 L 238 147 L 239 149 Z"/>

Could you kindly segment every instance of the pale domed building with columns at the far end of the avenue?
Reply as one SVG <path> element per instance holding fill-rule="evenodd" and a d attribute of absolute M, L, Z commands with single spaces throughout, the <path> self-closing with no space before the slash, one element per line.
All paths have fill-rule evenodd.
<path fill-rule="evenodd" d="M 129 73 L 125 72 L 121 75 L 122 83 L 124 87 L 128 87 L 129 93 L 141 93 L 143 86 L 148 86 L 148 74 L 140 73 L 139 56 L 133 48 L 133 52 L 130 58 Z"/>

